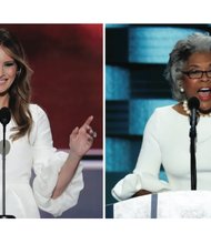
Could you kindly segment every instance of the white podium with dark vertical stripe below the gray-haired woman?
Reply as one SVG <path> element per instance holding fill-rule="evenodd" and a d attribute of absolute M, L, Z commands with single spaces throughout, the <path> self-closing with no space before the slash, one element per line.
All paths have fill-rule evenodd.
<path fill-rule="evenodd" d="M 171 191 L 107 205 L 110 218 L 209 218 L 211 191 Z"/>

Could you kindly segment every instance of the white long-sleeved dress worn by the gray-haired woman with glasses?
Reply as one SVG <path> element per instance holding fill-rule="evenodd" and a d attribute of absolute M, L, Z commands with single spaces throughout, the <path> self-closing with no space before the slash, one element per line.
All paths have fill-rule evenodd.
<path fill-rule="evenodd" d="M 111 193 L 118 201 L 139 190 L 150 192 L 191 190 L 190 122 L 172 106 L 158 108 L 149 119 L 135 169 Z M 197 189 L 211 190 L 211 118 L 200 116 L 195 142 Z M 168 181 L 159 179 L 161 164 Z"/>

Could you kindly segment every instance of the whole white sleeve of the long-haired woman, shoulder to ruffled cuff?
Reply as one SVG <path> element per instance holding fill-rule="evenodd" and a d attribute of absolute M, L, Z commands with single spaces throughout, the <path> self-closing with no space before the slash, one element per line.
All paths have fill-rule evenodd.
<path fill-rule="evenodd" d="M 82 166 L 79 164 L 73 179 L 57 199 L 51 199 L 58 181 L 61 166 L 64 164 L 68 153 L 57 151 L 53 148 L 49 120 L 44 111 L 37 106 L 33 125 L 33 193 L 38 206 L 60 216 L 64 211 L 78 203 L 80 191 L 83 189 Z"/>

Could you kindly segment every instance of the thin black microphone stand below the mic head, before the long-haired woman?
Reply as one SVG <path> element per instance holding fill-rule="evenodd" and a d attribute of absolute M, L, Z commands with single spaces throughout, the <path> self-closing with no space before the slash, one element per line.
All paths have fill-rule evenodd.
<path fill-rule="evenodd" d="M 3 114 L 4 115 L 4 114 Z M 6 125 L 10 118 L 1 119 L 3 125 L 3 146 L 2 146 L 2 215 L 0 218 L 16 218 L 13 215 L 6 214 Z"/>

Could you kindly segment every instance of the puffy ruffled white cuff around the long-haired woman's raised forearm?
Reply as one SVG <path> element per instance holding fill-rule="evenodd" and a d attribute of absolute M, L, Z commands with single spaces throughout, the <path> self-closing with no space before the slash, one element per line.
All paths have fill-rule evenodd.
<path fill-rule="evenodd" d="M 80 192 L 83 189 L 82 166 L 79 164 L 64 192 L 59 197 L 51 199 L 58 174 L 66 160 L 67 153 L 54 153 L 47 165 L 37 167 L 37 176 L 33 180 L 33 192 L 38 206 L 54 216 L 60 216 L 64 211 L 73 207 L 78 203 Z"/>

